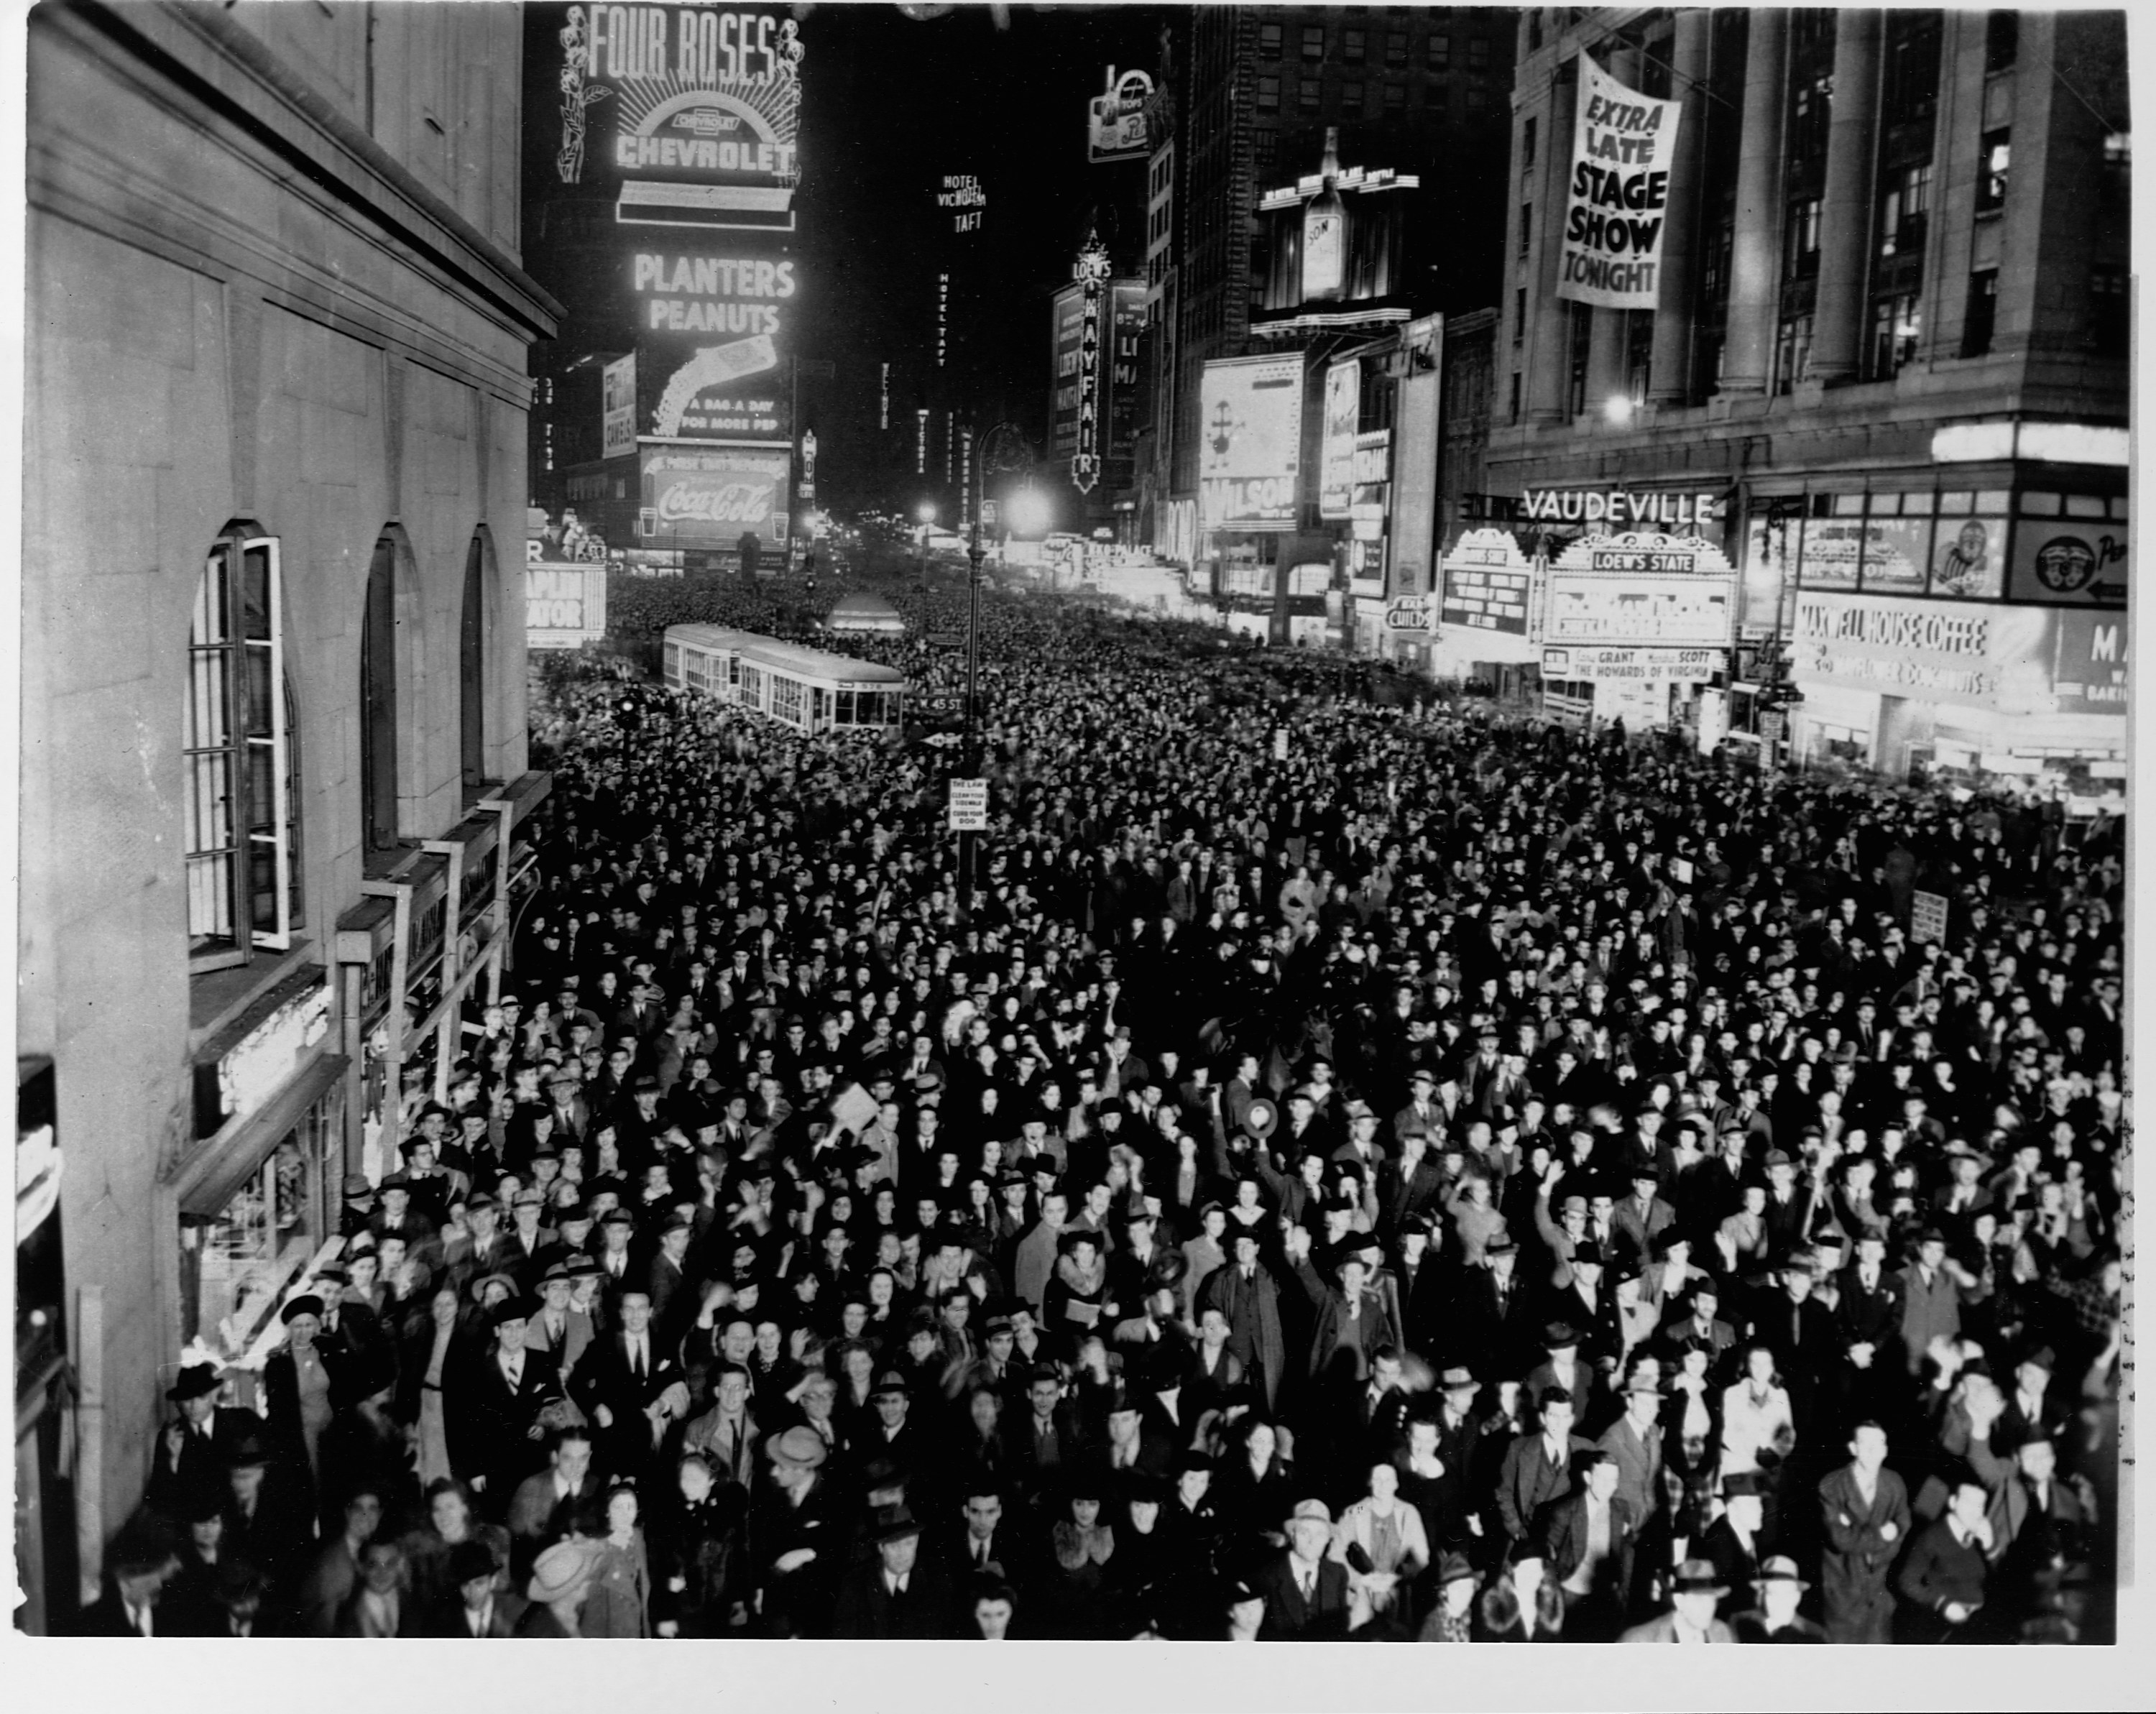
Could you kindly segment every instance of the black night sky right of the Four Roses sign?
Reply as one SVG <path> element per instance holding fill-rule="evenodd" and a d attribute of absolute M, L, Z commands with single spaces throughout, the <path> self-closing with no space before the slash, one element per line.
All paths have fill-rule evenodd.
<path fill-rule="evenodd" d="M 1046 399 L 1048 298 L 1095 205 L 1117 265 L 1134 272 L 1143 257 L 1145 164 L 1089 166 L 1084 119 L 1108 65 L 1151 69 L 1164 17 L 1013 6 L 998 30 L 987 6 L 921 22 L 893 4 L 808 9 L 800 244 L 813 304 L 800 354 L 837 362 L 843 395 L 873 392 L 882 360 L 929 356 L 934 246 L 949 241 L 985 306 L 966 317 L 981 379 Z M 983 229 L 964 239 L 931 203 L 944 172 L 987 190 Z"/>

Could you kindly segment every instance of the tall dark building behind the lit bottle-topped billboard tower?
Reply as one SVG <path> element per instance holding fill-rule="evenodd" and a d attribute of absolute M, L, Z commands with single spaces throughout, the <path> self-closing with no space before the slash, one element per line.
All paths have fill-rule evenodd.
<path fill-rule="evenodd" d="M 1199 6 L 1179 19 L 1173 367 L 1153 438 L 1162 550 L 1199 554 L 1199 390 L 1207 362 L 1253 349 L 1272 269 L 1259 198 L 1315 170 L 1328 127 L 1343 162 L 1421 179 L 1404 302 L 1464 313 L 1494 300 L 1516 22 L 1494 6 Z"/>

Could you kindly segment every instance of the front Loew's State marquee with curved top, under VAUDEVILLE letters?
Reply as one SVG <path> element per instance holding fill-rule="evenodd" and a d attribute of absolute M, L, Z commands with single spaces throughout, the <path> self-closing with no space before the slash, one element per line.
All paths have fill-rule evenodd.
<path fill-rule="evenodd" d="M 1699 537 L 1589 535 L 1550 565 L 1542 640 L 1727 649 L 1736 573 Z"/>

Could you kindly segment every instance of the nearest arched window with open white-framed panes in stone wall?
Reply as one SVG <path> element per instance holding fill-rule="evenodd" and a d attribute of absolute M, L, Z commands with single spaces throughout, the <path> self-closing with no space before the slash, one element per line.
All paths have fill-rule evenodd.
<path fill-rule="evenodd" d="M 188 627 L 188 951 L 194 968 L 285 951 L 302 923 L 300 720 L 276 537 L 233 526 Z"/>

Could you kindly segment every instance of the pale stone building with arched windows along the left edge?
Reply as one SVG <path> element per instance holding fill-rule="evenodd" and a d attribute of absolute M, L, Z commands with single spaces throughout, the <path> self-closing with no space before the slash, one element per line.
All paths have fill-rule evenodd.
<path fill-rule="evenodd" d="M 526 772 L 520 17 L 28 15 L 17 1621 L 500 981 Z M 32 1171 L 34 1169 L 34 1171 Z"/>

